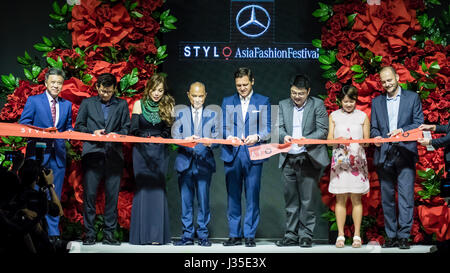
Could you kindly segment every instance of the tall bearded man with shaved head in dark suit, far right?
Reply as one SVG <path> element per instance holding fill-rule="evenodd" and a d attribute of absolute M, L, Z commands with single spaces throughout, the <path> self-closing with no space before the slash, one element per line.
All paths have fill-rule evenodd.
<path fill-rule="evenodd" d="M 380 70 L 380 79 L 386 93 L 372 100 L 372 138 L 386 138 L 418 128 L 423 123 L 420 97 L 402 89 L 399 75 L 388 66 Z M 387 240 L 383 247 L 408 249 L 413 223 L 415 164 L 418 160 L 416 142 L 376 144 L 373 164 L 377 167 L 381 186 L 381 203 Z M 395 184 L 398 191 L 398 217 L 395 202 Z"/>

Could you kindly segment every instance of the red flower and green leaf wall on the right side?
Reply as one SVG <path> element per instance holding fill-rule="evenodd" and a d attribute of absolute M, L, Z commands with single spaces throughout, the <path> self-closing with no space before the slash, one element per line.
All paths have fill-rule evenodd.
<path fill-rule="evenodd" d="M 450 117 L 450 5 L 438 0 L 334 1 L 319 2 L 313 16 L 322 26 L 321 39 L 313 40 L 320 48 L 322 76 L 327 79 L 323 96 L 329 113 L 339 108 L 337 94 L 343 85 L 358 89 L 357 108 L 370 117 L 371 101 L 382 94 L 378 70 L 393 66 L 403 88 L 417 91 L 422 100 L 425 123 L 447 124 Z M 439 18 L 427 11 L 442 8 Z M 437 136 L 439 137 L 439 135 Z M 438 196 L 444 174 L 443 149 L 434 152 L 418 145 L 416 165 L 415 211 L 411 231 L 414 243 L 450 239 L 450 210 Z M 373 148 L 366 150 L 370 192 L 363 196 L 363 240 L 383 243 L 384 217 L 380 182 L 372 164 Z M 335 199 L 328 192 L 329 170 L 322 177 L 322 200 L 330 208 L 323 216 L 336 230 Z M 351 204 L 348 203 L 348 214 Z M 353 234 L 346 226 L 347 237 Z"/>

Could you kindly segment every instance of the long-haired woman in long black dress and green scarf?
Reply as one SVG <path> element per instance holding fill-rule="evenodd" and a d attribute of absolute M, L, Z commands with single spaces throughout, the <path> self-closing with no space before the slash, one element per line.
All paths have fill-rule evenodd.
<path fill-rule="evenodd" d="M 167 93 L 166 78 L 154 74 L 141 100 L 135 102 L 131 133 L 139 137 L 170 137 L 174 98 Z M 166 144 L 136 143 L 133 169 L 136 192 L 130 223 L 130 244 L 163 245 L 170 242 L 166 174 L 169 154 Z"/>

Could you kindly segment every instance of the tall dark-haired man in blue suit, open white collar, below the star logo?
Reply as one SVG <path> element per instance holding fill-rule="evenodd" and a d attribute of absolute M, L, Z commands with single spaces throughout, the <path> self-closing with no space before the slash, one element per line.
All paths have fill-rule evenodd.
<path fill-rule="evenodd" d="M 237 93 L 222 101 L 223 136 L 236 145 L 222 145 L 228 193 L 229 239 L 224 246 L 242 244 L 254 247 L 259 223 L 259 192 L 262 164 L 265 160 L 250 160 L 249 146 L 260 145 L 270 138 L 270 101 L 253 92 L 255 80 L 249 68 L 239 68 L 234 73 Z M 243 143 L 244 145 L 239 145 Z M 241 227 L 241 195 L 245 189 L 245 219 Z"/>

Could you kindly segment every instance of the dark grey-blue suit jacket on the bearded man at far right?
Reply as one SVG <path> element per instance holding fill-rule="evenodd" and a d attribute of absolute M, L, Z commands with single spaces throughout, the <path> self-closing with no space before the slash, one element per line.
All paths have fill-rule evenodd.
<path fill-rule="evenodd" d="M 389 118 L 386 103 L 386 94 L 380 95 L 372 100 L 372 113 L 370 117 L 370 137 L 387 137 L 389 133 Z M 397 128 L 408 131 L 419 127 L 423 123 L 422 103 L 417 93 L 402 89 L 400 96 L 400 105 L 398 111 Z M 402 152 L 410 155 L 417 162 L 417 142 L 400 142 L 399 148 Z M 375 165 L 383 164 L 386 161 L 386 155 L 392 144 L 383 143 L 381 147 L 375 147 L 373 163 Z"/>

